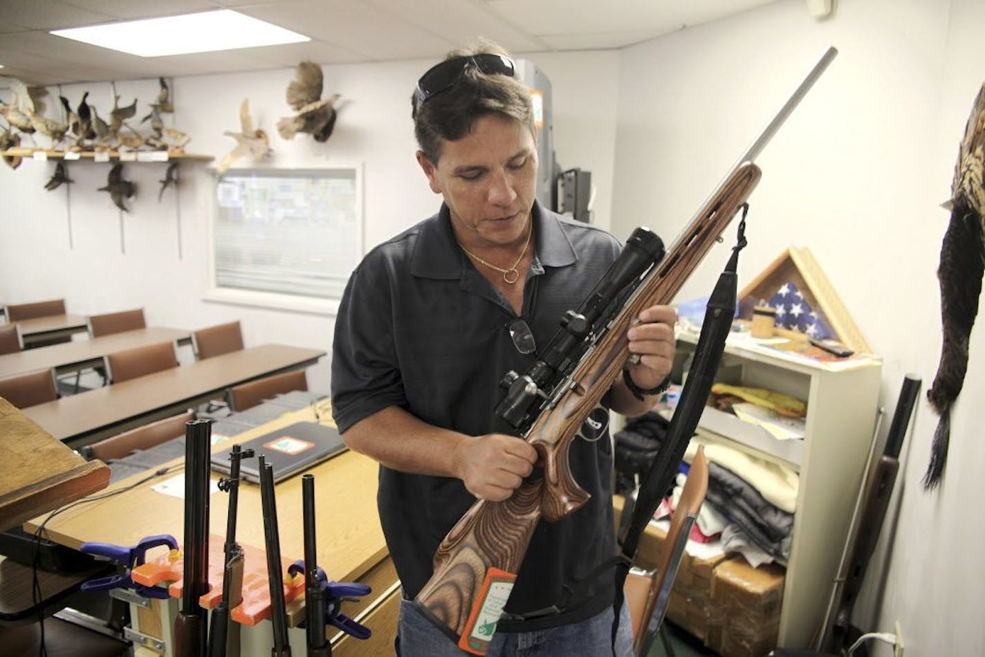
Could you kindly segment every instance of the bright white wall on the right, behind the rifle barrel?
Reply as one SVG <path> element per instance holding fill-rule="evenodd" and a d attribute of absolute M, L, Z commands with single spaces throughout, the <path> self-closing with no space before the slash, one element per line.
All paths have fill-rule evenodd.
<path fill-rule="evenodd" d="M 930 386 L 941 346 L 936 270 L 956 146 L 985 80 L 985 7 L 978 0 L 844 0 L 823 22 L 801 0 L 624 49 L 613 230 L 673 237 L 828 44 L 839 56 L 757 161 L 740 286 L 788 245 L 817 257 L 874 351 L 885 359 L 888 418 L 903 374 Z M 734 239 L 712 250 L 679 298 L 706 295 Z M 973 573 L 985 539 L 976 509 L 985 443 L 981 322 L 952 417 L 948 470 L 920 486 L 937 417 L 921 397 L 899 481 L 894 550 L 870 566 L 855 619 L 892 630 L 906 654 L 985 648 L 985 587 Z M 884 536 L 890 527 L 884 530 Z M 840 551 L 840 546 L 831 546 Z M 885 595 L 875 599 L 888 568 Z M 797 595 L 826 597 L 827 591 Z M 882 618 L 876 620 L 882 612 Z M 878 654 L 891 654 L 884 646 Z"/>

